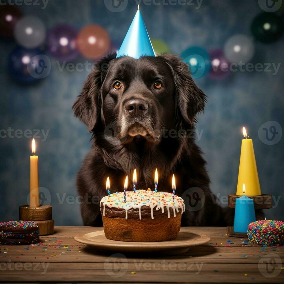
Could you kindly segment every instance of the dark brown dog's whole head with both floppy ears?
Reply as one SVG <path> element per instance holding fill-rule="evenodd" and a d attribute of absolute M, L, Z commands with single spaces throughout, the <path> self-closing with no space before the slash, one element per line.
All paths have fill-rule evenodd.
<path fill-rule="evenodd" d="M 204 93 L 177 57 L 113 54 L 88 76 L 73 109 L 95 134 L 112 125 L 121 143 L 141 137 L 158 143 L 163 132 L 192 124 L 204 103 Z"/>

